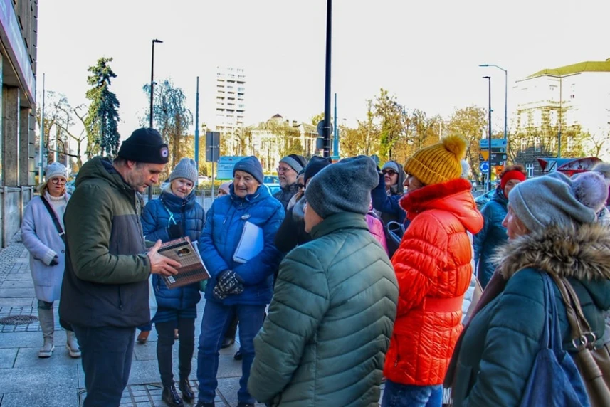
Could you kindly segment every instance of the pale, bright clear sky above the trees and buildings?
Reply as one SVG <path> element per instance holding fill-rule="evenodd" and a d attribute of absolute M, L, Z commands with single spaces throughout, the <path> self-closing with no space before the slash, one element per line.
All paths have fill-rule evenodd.
<path fill-rule="evenodd" d="M 389 90 L 407 110 L 445 118 L 456 107 L 487 107 L 503 127 L 515 80 L 544 68 L 610 58 L 607 0 L 335 0 L 332 93 L 348 125 L 366 117 L 366 100 Z M 280 113 L 309 122 L 324 110 L 326 0 L 53 0 L 38 3 L 37 93 L 85 103 L 87 69 L 114 58 L 111 90 L 120 101 L 122 139 L 148 110 L 142 85 L 171 78 L 200 120 L 213 122 L 216 66 L 246 70 L 246 124 Z M 509 118 L 510 122 L 510 118 Z M 191 127 L 191 134 L 194 126 Z"/>

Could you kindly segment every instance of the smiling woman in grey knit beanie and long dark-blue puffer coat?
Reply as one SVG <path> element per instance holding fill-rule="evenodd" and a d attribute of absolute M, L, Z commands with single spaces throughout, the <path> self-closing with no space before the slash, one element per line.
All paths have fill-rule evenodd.
<path fill-rule="evenodd" d="M 162 240 L 163 243 L 189 236 L 196 242 L 201 236 L 206 221 L 204 208 L 196 202 L 194 186 L 197 183 L 197 164 L 193 159 L 184 158 L 169 174 L 169 183 L 158 199 L 147 203 L 142 213 L 142 231 L 146 240 Z M 196 305 L 201 300 L 199 282 L 169 290 L 161 277 L 152 277 L 154 294 L 157 296 L 157 314 L 152 323 L 157 329 L 157 361 L 163 384 L 162 400 L 168 406 L 182 406 L 183 402 L 194 400 L 189 384 L 191 359 L 195 347 Z M 174 329 L 179 331 L 178 395 L 172 373 L 172 347 Z"/>

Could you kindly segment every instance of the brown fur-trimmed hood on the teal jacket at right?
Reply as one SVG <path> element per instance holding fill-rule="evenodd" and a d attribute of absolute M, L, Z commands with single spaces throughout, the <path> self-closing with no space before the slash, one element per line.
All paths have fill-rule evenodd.
<path fill-rule="evenodd" d="M 574 278 L 602 309 L 610 306 L 610 229 L 599 223 L 571 229 L 551 226 L 508 240 L 493 262 L 505 280 L 524 268 Z"/>

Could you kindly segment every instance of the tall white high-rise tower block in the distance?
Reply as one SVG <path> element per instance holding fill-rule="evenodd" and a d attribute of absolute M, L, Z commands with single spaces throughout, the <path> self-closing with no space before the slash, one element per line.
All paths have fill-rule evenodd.
<path fill-rule="evenodd" d="M 243 68 L 216 67 L 216 131 L 243 127 L 246 115 L 246 73 Z"/>

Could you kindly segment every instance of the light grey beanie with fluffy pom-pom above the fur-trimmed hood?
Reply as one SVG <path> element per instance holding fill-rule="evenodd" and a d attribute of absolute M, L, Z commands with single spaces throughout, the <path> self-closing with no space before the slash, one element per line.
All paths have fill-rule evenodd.
<path fill-rule="evenodd" d="M 604 194 L 598 190 L 604 189 L 604 180 L 584 179 L 584 182 L 572 181 L 560 172 L 552 172 L 545 176 L 527 179 L 510 190 L 508 201 L 517 218 L 530 231 L 547 228 L 551 225 L 573 227 L 582 223 L 594 223 L 596 211 L 580 199 L 584 196 L 596 196 L 596 200 Z M 578 194 L 578 197 L 577 197 Z M 605 197 L 608 192 L 606 191 Z M 604 198 L 605 201 L 605 198 Z M 597 202 L 590 202 L 596 206 Z"/>

